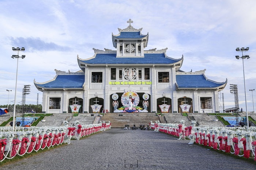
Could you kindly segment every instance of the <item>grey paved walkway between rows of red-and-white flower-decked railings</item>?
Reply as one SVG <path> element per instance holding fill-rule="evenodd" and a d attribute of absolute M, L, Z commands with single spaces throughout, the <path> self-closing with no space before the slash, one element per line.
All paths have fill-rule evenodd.
<path fill-rule="evenodd" d="M 256 169 L 256 165 L 154 131 L 110 129 L 0 169 Z"/>

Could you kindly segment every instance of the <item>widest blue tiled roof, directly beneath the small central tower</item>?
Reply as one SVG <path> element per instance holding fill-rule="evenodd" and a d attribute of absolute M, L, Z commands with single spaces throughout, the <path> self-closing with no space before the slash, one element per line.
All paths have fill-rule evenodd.
<path fill-rule="evenodd" d="M 116 54 L 96 54 L 95 58 L 81 60 L 87 64 L 172 64 L 181 59 L 165 58 L 163 53 L 144 54 L 144 57 L 116 57 Z"/>

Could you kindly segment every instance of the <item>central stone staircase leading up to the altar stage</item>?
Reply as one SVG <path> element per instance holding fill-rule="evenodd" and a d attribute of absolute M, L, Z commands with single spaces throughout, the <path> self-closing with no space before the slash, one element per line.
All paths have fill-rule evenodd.
<path fill-rule="evenodd" d="M 124 128 L 125 125 L 132 127 L 134 124 L 139 127 L 140 124 L 148 125 L 150 121 L 160 121 L 155 113 L 105 113 L 101 121 L 111 122 L 112 128 Z"/>

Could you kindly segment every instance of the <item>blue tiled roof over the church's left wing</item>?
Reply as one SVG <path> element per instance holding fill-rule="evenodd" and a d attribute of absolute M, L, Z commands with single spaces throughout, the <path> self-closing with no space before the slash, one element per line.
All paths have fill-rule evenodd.
<path fill-rule="evenodd" d="M 42 88 L 82 88 L 84 75 L 58 75 L 54 81 L 36 84 Z"/>

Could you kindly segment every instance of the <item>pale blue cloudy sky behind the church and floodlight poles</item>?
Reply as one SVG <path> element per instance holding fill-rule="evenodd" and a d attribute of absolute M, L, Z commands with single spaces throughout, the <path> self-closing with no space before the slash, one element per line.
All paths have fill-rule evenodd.
<path fill-rule="evenodd" d="M 249 47 L 244 53 L 248 111 L 253 111 L 252 92 L 256 88 L 256 2 L 255 0 L 1 0 L 0 1 L 0 105 L 12 104 L 15 94 L 17 59 L 12 47 L 25 47 L 26 55 L 18 63 L 17 103 L 22 88 L 31 85 L 26 104 L 42 103 L 36 82 L 51 80 L 54 69 L 79 70 L 79 58 L 94 55 L 93 48 L 112 49 L 112 32 L 134 28 L 149 33 L 148 49 L 168 47 L 167 55 L 181 58 L 181 70 L 206 69 L 208 79 L 228 84 L 225 108 L 234 107 L 229 84 L 238 85 L 239 106 L 245 111 L 242 59 L 236 59 L 237 47 Z M 256 91 L 253 91 L 256 100 Z M 255 108 L 256 109 L 256 108 Z"/>

